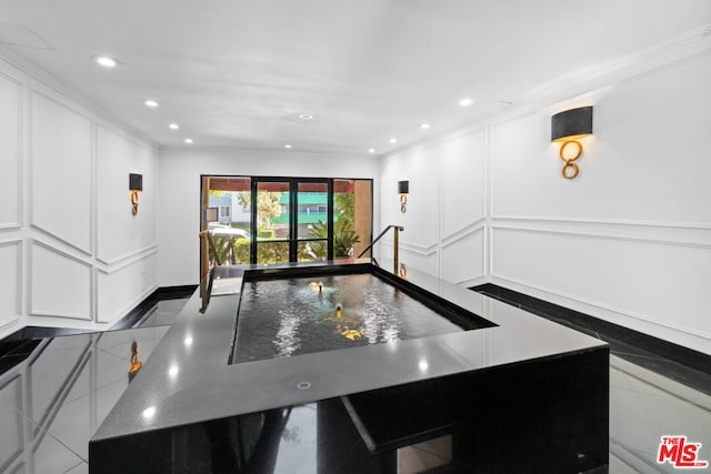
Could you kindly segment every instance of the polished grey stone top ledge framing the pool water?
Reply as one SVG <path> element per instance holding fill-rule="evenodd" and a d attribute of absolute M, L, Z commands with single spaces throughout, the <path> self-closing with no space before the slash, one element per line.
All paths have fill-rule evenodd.
<path fill-rule="evenodd" d="M 351 264 L 365 262 L 370 260 L 351 261 Z M 314 266 L 289 264 L 268 269 L 304 265 Z M 214 290 L 219 289 L 222 294 L 213 292 L 204 312 L 201 312 L 200 290 L 196 292 L 92 441 L 607 345 L 505 303 L 410 270 L 409 282 L 497 326 L 228 365 L 239 303 L 239 294 L 233 291 L 240 288 L 242 271 L 257 269 L 264 266 L 221 270 L 234 280 L 220 279 Z M 304 385 L 309 387 L 301 390 Z"/>

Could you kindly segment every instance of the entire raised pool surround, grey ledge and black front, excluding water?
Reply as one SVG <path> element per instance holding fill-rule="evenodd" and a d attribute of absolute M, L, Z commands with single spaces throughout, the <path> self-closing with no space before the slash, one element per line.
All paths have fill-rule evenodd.
<path fill-rule="evenodd" d="M 604 471 L 607 344 L 412 273 L 492 326 L 228 365 L 239 296 L 201 313 L 198 291 L 92 438 L 90 471 Z"/>

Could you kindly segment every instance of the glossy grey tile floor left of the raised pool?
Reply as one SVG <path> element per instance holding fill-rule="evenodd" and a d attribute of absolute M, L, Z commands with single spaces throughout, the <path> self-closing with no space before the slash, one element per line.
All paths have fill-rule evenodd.
<path fill-rule="evenodd" d="M 0 472 L 88 472 L 89 438 L 129 386 L 131 344 L 150 365 L 168 327 L 37 340 L 0 375 Z"/>

